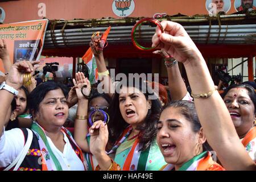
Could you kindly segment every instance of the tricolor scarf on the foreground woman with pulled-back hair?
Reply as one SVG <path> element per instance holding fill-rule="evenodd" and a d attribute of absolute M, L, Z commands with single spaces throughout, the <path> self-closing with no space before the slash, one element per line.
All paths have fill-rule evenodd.
<path fill-rule="evenodd" d="M 171 171 L 174 170 L 173 164 L 166 164 L 160 171 Z M 188 160 L 183 166 L 179 168 L 179 171 L 224 171 L 219 164 L 213 161 L 210 152 L 205 151 L 201 154 Z"/>

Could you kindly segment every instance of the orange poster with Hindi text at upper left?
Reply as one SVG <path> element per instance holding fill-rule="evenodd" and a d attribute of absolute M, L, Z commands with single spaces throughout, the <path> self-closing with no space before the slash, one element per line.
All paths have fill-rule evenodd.
<path fill-rule="evenodd" d="M 47 24 L 47 19 L 0 24 L 0 39 L 6 40 L 11 63 L 39 60 Z M 2 61 L 0 61 L 0 71 L 5 72 Z"/>

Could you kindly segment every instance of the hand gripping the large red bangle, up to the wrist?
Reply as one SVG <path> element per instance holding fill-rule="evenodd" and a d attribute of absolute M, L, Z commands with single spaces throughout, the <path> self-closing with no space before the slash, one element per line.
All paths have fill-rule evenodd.
<path fill-rule="evenodd" d="M 152 46 L 163 48 L 172 57 L 181 63 L 197 59 L 201 53 L 189 37 L 183 26 L 179 23 L 164 20 L 161 22 L 164 33 L 156 28 L 152 37 Z"/>

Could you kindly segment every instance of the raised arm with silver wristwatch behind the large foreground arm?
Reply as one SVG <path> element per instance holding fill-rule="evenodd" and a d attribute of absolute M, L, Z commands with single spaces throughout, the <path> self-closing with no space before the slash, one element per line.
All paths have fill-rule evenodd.
<path fill-rule="evenodd" d="M 168 86 L 172 101 L 182 100 L 187 94 L 185 82 L 180 75 L 179 65 L 164 49 L 155 51 L 164 57 L 164 64 L 166 65 L 168 73 Z"/>

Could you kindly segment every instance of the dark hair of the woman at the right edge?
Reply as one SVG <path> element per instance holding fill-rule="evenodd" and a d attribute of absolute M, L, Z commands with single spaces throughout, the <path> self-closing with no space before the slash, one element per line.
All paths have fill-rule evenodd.
<path fill-rule="evenodd" d="M 224 93 L 221 94 L 221 97 L 224 98 L 226 96 L 226 94 L 228 94 L 229 90 L 233 89 L 233 88 L 244 88 L 247 90 L 248 92 L 248 96 L 250 97 L 251 101 L 253 101 L 254 104 L 254 114 L 256 113 L 256 95 L 255 95 L 255 90 L 251 85 L 247 85 L 247 84 L 239 84 L 239 85 L 230 85 L 225 91 Z"/>

